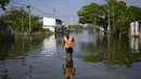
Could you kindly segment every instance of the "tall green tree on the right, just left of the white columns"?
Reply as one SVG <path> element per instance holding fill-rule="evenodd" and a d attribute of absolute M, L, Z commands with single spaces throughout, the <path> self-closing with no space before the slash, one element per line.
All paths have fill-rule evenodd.
<path fill-rule="evenodd" d="M 127 28 L 134 18 L 132 16 L 132 12 L 128 9 L 126 3 L 116 2 L 114 5 L 114 25 L 115 32 L 127 31 Z"/>

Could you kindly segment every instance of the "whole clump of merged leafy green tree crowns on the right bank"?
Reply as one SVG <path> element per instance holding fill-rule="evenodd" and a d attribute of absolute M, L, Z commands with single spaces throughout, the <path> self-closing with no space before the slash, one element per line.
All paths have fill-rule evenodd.
<path fill-rule="evenodd" d="M 91 3 L 78 11 L 79 23 L 95 24 L 105 29 L 111 25 L 113 32 L 127 31 L 129 23 L 134 21 L 133 9 L 129 9 L 125 2 L 106 0 L 106 4 Z M 140 11 L 140 9 L 137 9 Z M 136 9 L 134 9 L 136 12 Z M 138 16 L 141 15 L 138 13 Z M 139 18 L 138 18 L 139 19 Z"/>

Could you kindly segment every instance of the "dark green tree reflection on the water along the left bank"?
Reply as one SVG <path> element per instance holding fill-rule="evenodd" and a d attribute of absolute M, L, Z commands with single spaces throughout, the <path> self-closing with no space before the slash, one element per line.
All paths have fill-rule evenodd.
<path fill-rule="evenodd" d="M 18 38 L 14 42 L 3 43 L 0 47 L 0 61 L 23 58 L 37 52 L 42 44 L 42 39 Z"/>

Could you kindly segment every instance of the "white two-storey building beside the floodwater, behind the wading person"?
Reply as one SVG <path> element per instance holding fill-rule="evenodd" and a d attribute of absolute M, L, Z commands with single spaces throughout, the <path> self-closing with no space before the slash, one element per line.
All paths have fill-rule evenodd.
<path fill-rule="evenodd" d="M 43 22 L 43 26 L 42 26 L 43 29 L 48 28 L 53 32 L 63 30 L 61 19 L 56 19 L 52 17 L 43 17 L 42 22 Z"/>

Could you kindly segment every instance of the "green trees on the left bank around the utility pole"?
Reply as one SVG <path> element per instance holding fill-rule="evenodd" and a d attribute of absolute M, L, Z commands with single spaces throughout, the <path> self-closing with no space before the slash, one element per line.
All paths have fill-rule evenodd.
<path fill-rule="evenodd" d="M 1 18 L 7 23 L 12 24 L 15 32 L 22 32 L 22 22 L 24 25 L 24 32 L 29 31 L 29 15 L 24 9 L 10 9 Z M 31 30 L 39 30 L 41 28 L 41 22 L 39 22 L 39 16 L 30 15 Z"/>

